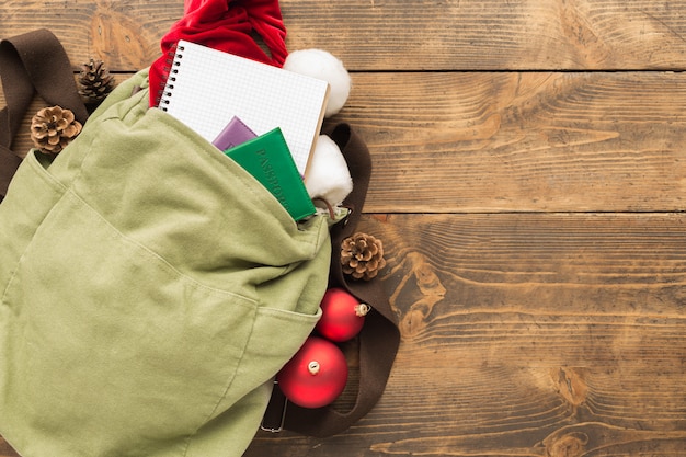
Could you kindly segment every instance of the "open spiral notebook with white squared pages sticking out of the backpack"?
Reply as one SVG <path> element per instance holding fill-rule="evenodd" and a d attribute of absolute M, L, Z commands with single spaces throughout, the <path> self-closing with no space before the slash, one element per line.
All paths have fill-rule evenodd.
<path fill-rule="evenodd" d="M 327 81 L 181 39 L 159 107 L 210 142 L 232 117 L 256 135 L 279 127 L 307 176 L 328 99 Z"/>

